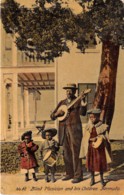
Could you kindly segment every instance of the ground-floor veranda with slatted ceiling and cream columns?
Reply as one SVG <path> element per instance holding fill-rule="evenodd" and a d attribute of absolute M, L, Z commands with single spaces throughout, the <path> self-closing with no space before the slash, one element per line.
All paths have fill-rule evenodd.
<path fill-rule="evenodd" d="M 1 128 L 3 129 L 3 132 L 1 140 L 6 140 L 8 128 L 11 129 L 11 132 L 13 134 L 13 140 L 17 140 L 19 136 L 19 128 L 23 129 L 26 127 L 30 127 L 30 93 L 33 93 L 34 95 L 35 110 L 37 110 L 37 100 L 38 98 L 40 99 L 41 91 L 54 90 L 56 87 L 55 82 L 56 78 L 54 66 L 2 68 L 3 90 L 1 97 Z M 18 115 L 18 112 L 20 113 L 20 115 Z"/>

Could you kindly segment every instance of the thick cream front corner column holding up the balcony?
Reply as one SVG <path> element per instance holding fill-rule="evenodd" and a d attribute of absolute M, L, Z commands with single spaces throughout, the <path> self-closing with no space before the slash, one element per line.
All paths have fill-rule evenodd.
<path fill-rule="evenodd" d="M 13 74 L 12 83 L 12 131 L 13 140 L 18 140 L 18 80 L 17 74 Z"/>

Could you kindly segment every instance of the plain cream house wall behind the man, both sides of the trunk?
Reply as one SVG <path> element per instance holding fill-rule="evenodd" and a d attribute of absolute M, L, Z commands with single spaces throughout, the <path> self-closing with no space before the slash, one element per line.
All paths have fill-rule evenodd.
<path fill-rule="evenodd" d="M 70 45 L 70 53 L 64 53 L 62 58 L 57 60 L 58 72 L 58 101 L 65 98 L 65 91 L 62 89 L 66 83 L 97 83 L 101 62 L 101 45 L 95 50 L 89 49 L 85 54 L 79 53 L 75 45 Z M 124 139 L 124 50 L 120 49 L 116 105 L 112 122 L 110 138 Z"/>

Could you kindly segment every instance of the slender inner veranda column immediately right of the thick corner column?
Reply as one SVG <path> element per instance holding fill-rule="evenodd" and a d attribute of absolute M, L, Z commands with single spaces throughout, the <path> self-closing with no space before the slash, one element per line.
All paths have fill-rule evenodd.
<path fill-rule="evenodd" d="M 20 122 L 21 128 L 24 128 L 24 87 L 21 86 L 21 97 L 20 97 Z"/>

